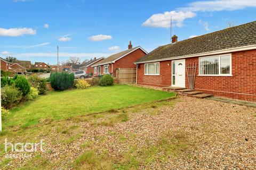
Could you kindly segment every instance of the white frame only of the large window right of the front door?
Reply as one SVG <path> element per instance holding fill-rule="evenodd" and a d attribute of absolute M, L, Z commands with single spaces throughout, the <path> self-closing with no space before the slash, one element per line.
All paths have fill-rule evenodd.
<path fill-rule="evenodd" d="M 230 73 L 229 74 L 221 74 L 221 57 L 223 56 L 229 56 L 229 65 L 230 65 Z M 201 58 L 209 58 L 209 57 L 218 57 L 219 67 L 218 71 L 219 74 L 200 74 L 201 65 L 200 65 L 200 59 Z M 212 76 L 212 77 L 231 77 L 232 75 L 232 54 L 221 54 L 221 55 L 211 55 L 211 56 L 204 56 L 198 58 L 198 76 Z"/>

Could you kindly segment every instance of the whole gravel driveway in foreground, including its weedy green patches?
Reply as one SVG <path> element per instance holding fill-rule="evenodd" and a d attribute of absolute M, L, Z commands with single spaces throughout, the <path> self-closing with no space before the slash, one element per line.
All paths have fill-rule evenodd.
<path fill-rule="evenodd" d="M 45 140 L 45 152 L 28 160 L 5 159 L 1 166 L 256 169 L 255 114 L 252 107 L 178 97 L 51 122 L 33 138 Z"/>

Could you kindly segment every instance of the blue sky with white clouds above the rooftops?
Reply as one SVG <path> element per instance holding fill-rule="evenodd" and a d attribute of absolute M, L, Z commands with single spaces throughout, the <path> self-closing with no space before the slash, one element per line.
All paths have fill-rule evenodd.
<path fill-rule="evenodd" d="M 57 63 L 127 49 L 129 41 L 148 52 L 178 40 L 221 30 L 228 23 L 255 21 L 256 0 L 121 1 L 1 0 L 0 56 Z"/>

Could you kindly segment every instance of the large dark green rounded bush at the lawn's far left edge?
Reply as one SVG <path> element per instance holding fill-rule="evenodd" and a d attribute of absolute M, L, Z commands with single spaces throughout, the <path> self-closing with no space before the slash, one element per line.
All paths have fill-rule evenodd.
<path fill-rule="evenodd" d="M 50 75 L 51 86 L 54 90 L 66 90 L 73 87 L 75 76 L 73 73 L 55 72 Z"/>

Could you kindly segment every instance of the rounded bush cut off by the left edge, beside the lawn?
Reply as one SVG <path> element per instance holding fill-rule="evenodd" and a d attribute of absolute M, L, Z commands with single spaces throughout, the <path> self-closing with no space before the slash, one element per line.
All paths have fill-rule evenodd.
<path fill-rule="evenodd" d="M 5 108 L 11 108 L 15 104 L 18 104 L 22 98 L 21 91 L 14 86 L 6 85 L 1 89 L 2 105 Z"/>

